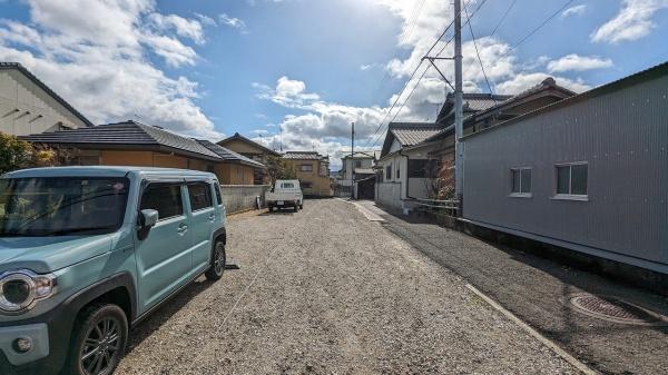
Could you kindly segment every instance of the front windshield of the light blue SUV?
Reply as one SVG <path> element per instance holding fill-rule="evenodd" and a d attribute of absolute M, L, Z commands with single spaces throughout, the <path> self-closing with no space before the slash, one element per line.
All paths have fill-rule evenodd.
<path fill-rule="evenodd" d="M 0 179 L 0 237 L 105 234 L 120 227 L 125 177 Z"/>

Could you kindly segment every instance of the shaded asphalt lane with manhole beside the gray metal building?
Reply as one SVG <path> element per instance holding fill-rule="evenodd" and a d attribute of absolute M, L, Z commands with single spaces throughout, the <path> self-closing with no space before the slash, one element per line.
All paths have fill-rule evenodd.
<path fill-rule="evenodd" d="M 568 304 L 582 293 L 619 298 L 668 316 L 668 298 L 534 255 L 472 238 L 419 218 L 380 211 L 383 226 L 452 270 L 603 374 L 667 374 L 668 327 L 619 324 Z"/>

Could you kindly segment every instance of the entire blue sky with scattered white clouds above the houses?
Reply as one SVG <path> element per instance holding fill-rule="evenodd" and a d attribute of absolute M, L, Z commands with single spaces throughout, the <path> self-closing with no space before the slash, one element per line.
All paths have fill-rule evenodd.
<path fill-rule="evenodd" d="M 480 7 L 472 27 L 494 92 L 548 75 L 582 91 L 668 60 L 668 0 L 463 2 Z M 0 60 L 98 124 L 135 118 L 212 140 L 238 131 L 269 146 L 281 128 L 284 149 L 336 157 L 351 121 L 371 147 L 383 119 L 433 120 L 445 95 L 433 69 L 386 115 L 452 13 L 443 0 L 0 0 Z M 465 87 L 487 92 L 468 28 L 463 39 Z"/>

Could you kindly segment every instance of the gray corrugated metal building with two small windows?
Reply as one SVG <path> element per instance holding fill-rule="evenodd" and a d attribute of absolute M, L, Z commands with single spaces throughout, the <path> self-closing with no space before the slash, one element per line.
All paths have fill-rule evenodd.
<path fill-rule="evenodd" d="M 668 62 L 464 137 L 463 218 L 668 274 Z"/>

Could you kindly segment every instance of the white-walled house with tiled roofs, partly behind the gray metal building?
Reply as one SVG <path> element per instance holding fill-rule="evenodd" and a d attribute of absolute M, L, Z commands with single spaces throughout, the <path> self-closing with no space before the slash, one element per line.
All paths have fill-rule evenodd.
<path fill-rule="evenodd" d="M 463 134 L 493 127 L 538 108 L 576 95 L 547 78 L 514 96 L 464 93 Z M 435 122 L 390 124 L 379 161 L 381 184 L 376 200 L 386 206 L 410 209 L 415 199 L 436 198 L 434 174 L 454 160 L 454 96 L 448 95 Z"/>

